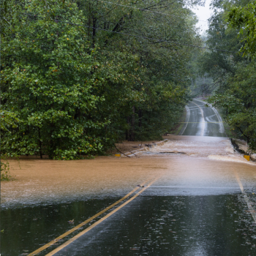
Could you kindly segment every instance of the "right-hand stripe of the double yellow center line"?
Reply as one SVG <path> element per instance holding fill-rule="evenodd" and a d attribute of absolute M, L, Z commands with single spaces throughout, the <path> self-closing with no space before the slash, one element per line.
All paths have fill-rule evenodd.
<path fill-rule="evenodd" d="M 80 238 L 80 236 L 83 236 L 85 233 L 87 233 L 89 230 L 91 230 L 92 228 L 96 227 L 97 225 L 99 225 L 99 223 L 103 222 L 105 219 L 107 219 L 108 217 L 110 217 L 112 214 L 116 213 L 116 211 L 120 210 L 121 208 L 123 208 L 124 206 L 126 206 L 129 202 L 131 202 L 132 200 L 134 200 L 136 197 L 138 197 L 138 195 L 140 195 L 145 189 L 147 189 L 148 187 L 151 186 L 151 184 L 153 184 L 155 181 L 157 181 L 159 177 L 154 178 L 153 181 L 151 181 L 147 187 L 144 187 L 143 189 L 141 189 L 136 195 L 134 195 L 132 198 L 130 198 L 129 200 L 127 200 L 125 203 L 123 203 L 121 206 L 118 206 L 118 208 L 116 208 L 115 210 L 111 211 L 109 214 L 107 214 L 105 217 L 103 217 L 102 219 L 99 219 L 97 222 L 95 222 L 93 225 L 91 225 L 90 227 L 87 227 L 85 230 L 83 230 L 82 232 L 78 233 L 78 235 L 74 236 L 73 238 L 69 239 L 67 242 L 65 242 L 64 244 L 61 244 L 61 246 L 59 246 L 58 248 L 54 249 L 52 252 L 48 253 L 45 256 L 52 256 L 54 254 L 56 254 L 56 252 L 59 252 L 61 249 L 64 249 L 64 247 L 66 247 L 67 245 L 71 244 L 73 241 L 75 241 L 76 239 Z"/>

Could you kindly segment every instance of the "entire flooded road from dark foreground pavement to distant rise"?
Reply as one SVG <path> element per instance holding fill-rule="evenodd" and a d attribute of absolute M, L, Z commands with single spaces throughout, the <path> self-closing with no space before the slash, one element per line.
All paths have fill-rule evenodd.
<path fill-rule="evenodd" d="M 256 255 L 256 165 L 219 124 L 130 158 L 10 160 L 1 255 Z"/>

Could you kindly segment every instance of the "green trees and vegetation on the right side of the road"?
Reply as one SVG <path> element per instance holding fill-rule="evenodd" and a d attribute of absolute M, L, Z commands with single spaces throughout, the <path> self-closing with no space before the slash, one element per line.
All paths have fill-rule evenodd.
<path fill-rule="evenodd" d="M 256 150 L 256 5 L 251 1 L 211 1 L 213 15 L 194 69 L 197 75 L 212 79 L 197 94 L 219 108 L 226 129 L 244 138 Z M 228 127 L 228 128 L 227 128 Z"/>

